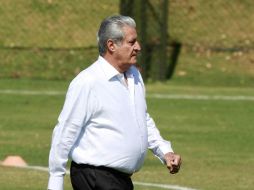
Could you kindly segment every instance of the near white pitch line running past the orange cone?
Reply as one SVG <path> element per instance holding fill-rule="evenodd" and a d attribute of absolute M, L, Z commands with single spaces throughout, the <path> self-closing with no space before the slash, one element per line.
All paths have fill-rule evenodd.
<path fill-rule="evenodd" d="M 1 162 L 0 162 L 0 165 L 2 165 Z M 12 166 L 12 167 L 48 172 L 48 168 L 43 167 L 43 166 Z M 66 170 L 66 174 L 69 175 L 70 171 Z M 140 186 L 146 186 L 146 187 L 158 187 L 161 189 L 171 189 L 171 190 L 197 190 L 197 189 L 193 189 L 193 188 L 189 188 L 189 187 L 182 187 L 179 185 L 169 185 L 169 184 L 160 184 L 160 183 L 145 183 L 145 182 L 139 182 L 139 181 L 133 181 L 133 184 L 140 185 Z"/>

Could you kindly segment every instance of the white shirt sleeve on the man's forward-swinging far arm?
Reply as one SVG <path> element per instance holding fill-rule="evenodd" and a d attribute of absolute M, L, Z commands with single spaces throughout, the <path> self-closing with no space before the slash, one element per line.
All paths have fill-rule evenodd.
<path fill-rule="evenodd" d="M 164 155 L 168 152 L 173 152 L 171 143 L 161 137 L 154 120 L 148 113 L 146 114 L 146 123 L 148 128 L 148 148 L 165 164 Z"/>

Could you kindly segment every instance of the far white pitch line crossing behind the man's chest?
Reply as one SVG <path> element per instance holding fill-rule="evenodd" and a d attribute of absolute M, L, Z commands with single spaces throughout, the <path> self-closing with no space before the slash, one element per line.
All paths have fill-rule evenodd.
<path fill-rule="evenodd" d="M 0 90 L 0 94 L 10 95 L 65 95 L 63 91 L 43 91 L 43 90 Z M 254 101 L 254 96 L 225 96 L 225 95 L 184 95 L 184 94 L 147 94 L 147 98 L 157 99 L 183 99 L 183 100 L 230 100 L 230 101 Z"/>

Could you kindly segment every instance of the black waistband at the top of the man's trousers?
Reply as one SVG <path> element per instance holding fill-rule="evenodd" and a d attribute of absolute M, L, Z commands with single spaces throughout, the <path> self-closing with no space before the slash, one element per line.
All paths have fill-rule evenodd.
<path fill-rule="evenodd" d="M 128 174 L 128 173 L 124 173 L 121 171 L 118 171 L 116 169 L 113 168 L 109 168 L 106 166 L 93 166 L 93 165 L 89 165 L 89 164 L 77 164 L 76 162 L 72 161 L 71 165 L 77 168 L 90 168 L 90 169 L 97 169 L 97 170 L 101 170 L 101 171 L 108 171 L 112 174 L 116 174 L 122 177 L 127 177 L 130 178 L 132 176 L 132 174 Z"/>

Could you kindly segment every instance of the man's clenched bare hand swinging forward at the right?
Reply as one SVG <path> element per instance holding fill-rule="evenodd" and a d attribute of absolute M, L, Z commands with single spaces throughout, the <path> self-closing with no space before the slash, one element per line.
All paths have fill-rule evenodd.
<path fill-rule="evenodd" d="M 181 156 L 173 152 L 168 152 L 165 154 L 165 161 L 167 168 L 171 174 L 175 174 L 180 170 L 181 166 Z"/>

